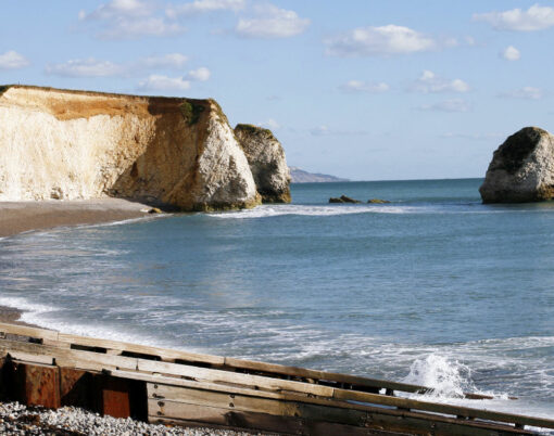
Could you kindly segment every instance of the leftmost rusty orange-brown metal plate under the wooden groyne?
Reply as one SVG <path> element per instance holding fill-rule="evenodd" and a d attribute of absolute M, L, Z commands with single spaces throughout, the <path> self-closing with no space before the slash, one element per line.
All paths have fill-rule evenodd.
<path fill-rule="evenodd" d="M 12 372 L 14 396 L 27 406 L 60 407 L 58 367 L 15 363 Z"/>

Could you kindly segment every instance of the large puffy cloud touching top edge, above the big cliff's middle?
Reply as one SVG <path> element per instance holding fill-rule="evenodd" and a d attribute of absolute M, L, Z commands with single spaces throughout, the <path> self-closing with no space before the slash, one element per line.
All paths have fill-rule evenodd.
<path fill-rule="evenodd" d="M 158 2 L 154 0 L 112 0 L 95 11 L 79 12 L 79 20 L 96 26 L 100 39 L 134 39 L 142 36 L 166 37 L 182 34 L 185 28 L 156 16 Z"/>

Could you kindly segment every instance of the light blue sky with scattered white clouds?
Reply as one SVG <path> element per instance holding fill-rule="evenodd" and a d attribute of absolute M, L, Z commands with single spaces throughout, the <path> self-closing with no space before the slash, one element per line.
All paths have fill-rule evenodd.
<path fill-rule="evenodd" d="M 483 177 L 554 132 L 554 1 L 2 2 L 0 84 L 213 98 L 290 166 L 352 180 Z"/>

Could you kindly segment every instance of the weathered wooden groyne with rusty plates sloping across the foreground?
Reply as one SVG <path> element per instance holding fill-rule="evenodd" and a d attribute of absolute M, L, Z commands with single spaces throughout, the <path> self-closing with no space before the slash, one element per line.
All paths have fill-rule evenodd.
<path fill-rule="evenodd" d="M 554 429 L 554 420 L 430 402 L 424 386 L 2 323 L 0 364 L 4 398 L 151 423 L 292 435 Z"/>

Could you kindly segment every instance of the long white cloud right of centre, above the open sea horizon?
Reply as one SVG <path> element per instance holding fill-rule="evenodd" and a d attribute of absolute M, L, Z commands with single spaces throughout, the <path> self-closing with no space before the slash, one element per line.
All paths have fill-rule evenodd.
<path fill-rule="evenodd" d="M 358 27 L 325 41 L 327 54 L 337 56 L 373 56 L 429 51 L 438 43 L 408 27 L 389 24 Z"/>

